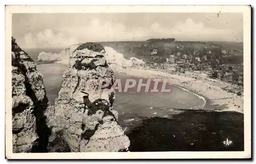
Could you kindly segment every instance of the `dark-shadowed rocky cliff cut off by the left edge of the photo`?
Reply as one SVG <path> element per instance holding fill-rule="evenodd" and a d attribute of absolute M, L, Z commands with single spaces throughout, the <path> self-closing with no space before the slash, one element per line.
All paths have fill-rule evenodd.
<path fill-rule="evenodd" d="M 13 152 L 46 152 L 50 106 L 42 76 L 34 61 L 12 38 L 12 144 Z"/>

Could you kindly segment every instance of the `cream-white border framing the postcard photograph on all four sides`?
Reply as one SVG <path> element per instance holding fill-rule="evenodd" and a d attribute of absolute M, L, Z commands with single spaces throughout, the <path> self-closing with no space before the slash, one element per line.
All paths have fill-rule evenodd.
<path fill-rule="evenodd" d="M 12 13 L 243 13 L 244 151 L 242 152 L 86 152 L 12 153 L 11 27 Z M 6 157 L 8 159 L 191 159 L 251 157 L 251 8 L 250 6 L 6 6 Z"/>

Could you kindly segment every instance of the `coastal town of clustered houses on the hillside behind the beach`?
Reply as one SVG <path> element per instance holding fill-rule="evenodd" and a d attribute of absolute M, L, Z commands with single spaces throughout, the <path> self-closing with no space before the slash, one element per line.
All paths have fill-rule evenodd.
<path fill-rule="evenodd" d="M 148 46 L 139 45 L 138 48 Z M 241 53 L 239 50 L 216 49 L 214 45 L 206 46 L 203 50 L 184 50 L 183 45 L 175 45 L 175 51 L 165 49 L 160 52 L 153 49 L 144 63 L 134 64 L 133 67 L 154 69 L 168 73 L 191 72 L 204 74 L 206 77 L 232 84 L 243 85 L 243 62 L 234 62 L 233 56 Z M 167 51 L 166 51 L 167 50 Z M 164 53 L 167 57 L 162 57 Z"/>

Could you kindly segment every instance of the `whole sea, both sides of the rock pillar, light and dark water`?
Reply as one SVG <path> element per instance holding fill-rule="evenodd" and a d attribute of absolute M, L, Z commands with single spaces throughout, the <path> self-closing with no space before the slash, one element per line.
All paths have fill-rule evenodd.
<path fill-rule="evenodd" d="M 44 51 L 58 53 L 61 50 Z M 41 52 L 25 51 L 34 61 Z M 61 63 L 37 64 L 52 103 L 58 96 L 67 66 Z M 136 79 L 115 75 L 121 80 Z M 242 113 L 204 110 L 205 100 L 199 95 L 173 85 L 167 85 L 167 88 L 171 91 L 164 94 L 116 92 L 113 106 L 119 113 L 118 123 L 130 138 L 130 151 L 244 150 Z M 225 145 L 226 139 L 232 144 Z"/>

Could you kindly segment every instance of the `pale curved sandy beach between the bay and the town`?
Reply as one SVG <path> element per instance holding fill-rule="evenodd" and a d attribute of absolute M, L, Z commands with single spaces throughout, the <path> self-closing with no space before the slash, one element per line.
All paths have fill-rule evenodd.
<path fill-rule="evenodd" d="M 202 96 L 206 100 L 204 109 L 216 111 L 237 111 L 244 112 L 243 90 L 237 85 L 225 83 L 222 81 L 209 79 L 205 75 L 191 72 L 165 73 L 142 68 L 121 68 L 117 72 L 130 76 L 149 78 L 149 79 L 167 79 L 169 84 L 187 89 Z M 241 91 L 242 96 L 236 92 Z"/>

